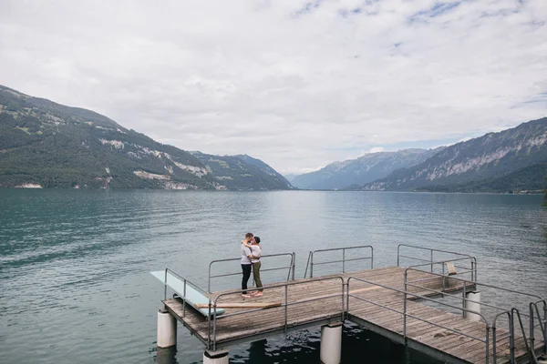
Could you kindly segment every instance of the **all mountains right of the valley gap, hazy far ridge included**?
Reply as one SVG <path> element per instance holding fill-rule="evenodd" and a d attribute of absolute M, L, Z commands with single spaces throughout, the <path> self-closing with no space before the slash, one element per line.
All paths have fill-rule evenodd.
<path fill-rule="evenodd" d="M 370 153 L 291 176 L 294 187 L 366 191 L 510 192 L 542 190 L 547 118 L 449 147 Z"/>

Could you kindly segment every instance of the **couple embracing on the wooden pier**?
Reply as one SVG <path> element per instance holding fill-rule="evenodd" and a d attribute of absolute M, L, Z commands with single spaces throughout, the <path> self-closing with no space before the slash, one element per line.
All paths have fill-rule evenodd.
<path fill-rule="evenodd" d="M 252 233 L 245 234 L 245 238 L 242 240 L 242 270 L 243 270 L 243 279 L 242 279 L 242 297 L 251 298 L 251 297 L 260 297 L 263 295 L 263 285 L 260 280 L 260 238 L 254 237 Z M 253 269 L 253 278 L 256 283 L 257 290 L 248 293 L 247 292 L 247 282 L 251 278 L 251 269 Z"/>

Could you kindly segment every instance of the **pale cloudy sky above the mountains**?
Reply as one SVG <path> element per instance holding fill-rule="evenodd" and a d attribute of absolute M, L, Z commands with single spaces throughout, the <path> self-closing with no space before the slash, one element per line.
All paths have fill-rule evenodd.
<path fill-rule="evenodd" d="M 306 172 L 547 116 L 547 1 L 0 0 L 0 84 Z"/>

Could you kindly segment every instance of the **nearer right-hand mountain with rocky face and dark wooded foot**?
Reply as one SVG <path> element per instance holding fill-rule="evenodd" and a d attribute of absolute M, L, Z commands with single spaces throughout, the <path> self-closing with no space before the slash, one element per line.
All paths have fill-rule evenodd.
<path fill-rule="evenodd" d="M 507 192 L 542 189 L 547 117 L 446 147 L 414 167 L 367 183 L 362 190 Z"/>

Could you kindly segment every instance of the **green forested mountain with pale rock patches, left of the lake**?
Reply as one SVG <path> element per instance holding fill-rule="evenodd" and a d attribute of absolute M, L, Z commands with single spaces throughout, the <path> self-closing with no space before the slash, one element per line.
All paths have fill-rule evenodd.
<path fill-rule="evenodd" d="M 249 156 L 161 144 L 93 111 L 0 86 L 0 187 L 290 189 Z"/>

